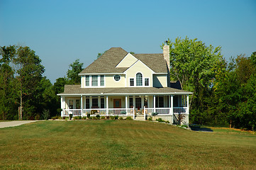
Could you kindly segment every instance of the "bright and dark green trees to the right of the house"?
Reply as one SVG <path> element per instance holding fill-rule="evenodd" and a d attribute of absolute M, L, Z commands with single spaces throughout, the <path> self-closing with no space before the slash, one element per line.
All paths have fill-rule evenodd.
<path fill-rule="evenodd" d="M 162 44 L 162 46 L 164 43 Z M 189 38 L 167 40 L 170 77 L 191 91 L 190 123 L 253 130 L 256 126 L 256 52 L 226 61 L 221 47 Z"/>

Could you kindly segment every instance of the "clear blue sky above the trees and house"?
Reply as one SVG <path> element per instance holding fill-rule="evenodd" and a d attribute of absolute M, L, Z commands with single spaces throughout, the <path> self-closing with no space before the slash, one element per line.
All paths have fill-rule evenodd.
<path fill-rule="evenodd" d="M 178 36 L 222 47 L 228 60 L 256 51 L 256 1 L 36 1 L 0 0 L 0 46 L 26 45 L 52 83 L 79 59 L 123 47 L 161 53 Z"/>

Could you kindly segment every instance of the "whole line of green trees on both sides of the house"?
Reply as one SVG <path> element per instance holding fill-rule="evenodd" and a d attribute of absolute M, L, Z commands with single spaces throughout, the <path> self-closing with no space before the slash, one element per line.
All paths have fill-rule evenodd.
<path fill-rule="evenodd" d="M 162 44 L 164 45 L 164 44 Z M 256 125 L 256 52 L 227 61 L 221 47 L 201 40 L 167 40 L 170 78 L 191 91 L 190 123 L 230 125 L 254 129 Z M 101 55 L 101 54 L 100 54 Z M 98 57 L 100 57 L 98 54 Z M 67 77 L 54 84 L 43 77 L 40 57 L 29 47 L 0 47 L 0 119 L 30 120 L 60 115 L 60 94 L 65 84 L 80 84 L 83 64 L 75 60 Z M 47 114 L 46 114 L 47 115 Z"/>

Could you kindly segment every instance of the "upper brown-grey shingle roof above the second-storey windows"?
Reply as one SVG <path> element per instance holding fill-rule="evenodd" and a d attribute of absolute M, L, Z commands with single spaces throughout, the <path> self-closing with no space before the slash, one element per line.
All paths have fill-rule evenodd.
<path fill-rule="evenodd" d="M 111 47 L 101 57 L 92 62 L 80 74 L 123 73 L 128 67 L 116 67 L 128 52 L 121 47 Z M 167 73 L 167 64 L 162 54 L 133 54 L 155 73 Z"/>

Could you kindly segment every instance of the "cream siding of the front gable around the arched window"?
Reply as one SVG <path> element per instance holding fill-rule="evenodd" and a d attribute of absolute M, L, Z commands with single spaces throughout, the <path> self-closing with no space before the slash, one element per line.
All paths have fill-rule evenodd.
<path fill-rule="evenodd" d="M 143 64 L 143 62 L 136 62 L 135 64 L 133 64 L 132 67 L 130 67 L 127 71 L 126 71 L 126 86 L 130 86 L 130 78 L 134 78 L 134 80 L 136 80 L 136 74 L 140 72 L 141 74 L 143 74 L 143 86 L 144 86 L 144 78 L 149 78 L 150 80 L 150 86 L 152 86 L 152 70 L 147 67 L 145 64 Z"/>

